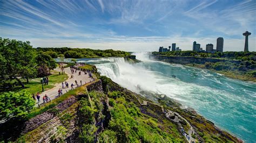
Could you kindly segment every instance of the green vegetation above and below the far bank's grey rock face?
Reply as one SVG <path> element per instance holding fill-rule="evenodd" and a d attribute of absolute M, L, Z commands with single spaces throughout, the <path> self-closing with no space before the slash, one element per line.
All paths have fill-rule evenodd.
<path fill-rule="evenodd" d="M 194 52 L 194 51 L 174 51 L 174 52 L 153 52 L 154 55 L 160 56 L 187 56 L 194 58 L 206 59 L 223 59 L 227 61 L 205 62 L 205 63 L 189 63 L 187 66 L 205 68 L 217 71 L 228 77 L 238 80 L 256 82 L 256 52 Z M 237 61 L 237 62 L 232 62 Z"/>

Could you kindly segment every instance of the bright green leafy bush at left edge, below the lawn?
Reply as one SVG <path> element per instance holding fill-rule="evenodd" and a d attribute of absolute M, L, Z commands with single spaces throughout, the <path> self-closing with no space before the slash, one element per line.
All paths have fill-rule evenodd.
<path fill-rule="evenodd" d="M 0 95 L 0 120 L 23 119 L 34 106 L 35 101 L 27 92 L 5 92 Z"/>

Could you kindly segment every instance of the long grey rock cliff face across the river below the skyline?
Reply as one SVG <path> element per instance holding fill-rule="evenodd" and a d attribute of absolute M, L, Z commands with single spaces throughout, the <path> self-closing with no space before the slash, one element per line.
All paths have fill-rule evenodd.
<path fill-rule="evenodd" d="M 240 61 L 234 61 L 234 60 L 214 59 L 214 58 L 199 58 L 199 57 L 190 57 L 190 56 L 150 55 L 150 58 L 156 59 L 156 60 L 159 60 L 159 61 L 171 62 L 171 63 L 180 63 L 180 64 L 187 64 L 187 63 L 204 64 L 205 62 L 226 62 L 226 61 L 233 62 L 233 63 L 240 63 Z"/>

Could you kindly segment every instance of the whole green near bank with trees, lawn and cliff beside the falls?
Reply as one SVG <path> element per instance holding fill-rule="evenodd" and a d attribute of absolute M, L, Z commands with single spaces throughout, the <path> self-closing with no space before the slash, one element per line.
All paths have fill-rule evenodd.
<path fill-rule="evenodd" d="M 129 55 L 127 52 L 44 50 L 32 48 L 29 41 L 10 39 L 1 39 L 0 44 L 0 141 L 241 142 L 165 95 L 149 91 L 136 94 L 101 76 L 93 65 L 64 67 L 52 59 L 62 54 L 75 58 L 66 57 L 70 53 L 91 58 L 123 57 Z M 89 51 L 93 54 L 82 54 Z M 43 77 L 49 80 L 43 82 Z M 81 80 L 71 89 L 70 85 L 64 86 L 65 81 L 74 78 L 87 81 Z M 63 91 L 51 96 L 50 101 L 43 98 L 44 102 L 39 102 L 39 96 L 37 102 L 33 97 L 44 96 L 42 93 L 51 89 Z"/>

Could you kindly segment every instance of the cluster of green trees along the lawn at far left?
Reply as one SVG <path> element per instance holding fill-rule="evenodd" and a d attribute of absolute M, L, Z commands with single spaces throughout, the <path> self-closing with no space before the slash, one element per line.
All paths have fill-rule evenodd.
<path fill-rule="evenodd" d="M 21 78 L 43 77 L 56 68 L 56 62 L 43 51 L 32 48 L 29 41 L 0 38 L 0 88 L 8 89 L 19 84 L 25 88 Z M 16 82 L 15 82 L 16 81 Z"/>

